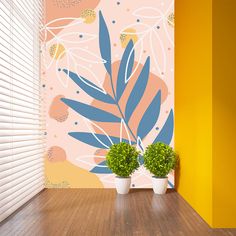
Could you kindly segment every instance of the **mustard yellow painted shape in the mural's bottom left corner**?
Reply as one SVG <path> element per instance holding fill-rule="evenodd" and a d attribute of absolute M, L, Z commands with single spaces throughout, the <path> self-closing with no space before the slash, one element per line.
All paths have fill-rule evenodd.
<path fill-rule="evenodd" d="M 68 161 L 45 160 L 46 188 L 103 188 L 95 174 Z"/>

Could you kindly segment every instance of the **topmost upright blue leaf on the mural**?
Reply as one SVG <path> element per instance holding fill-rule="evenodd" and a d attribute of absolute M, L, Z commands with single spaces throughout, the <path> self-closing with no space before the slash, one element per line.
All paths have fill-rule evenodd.
<path fill-rule="evenodd" d="M 104 66 L 111 76 L 111 42 L 107 25 L 101 11 L 99 11 L 99 47 L 102 58 L 106 60 Z"/>

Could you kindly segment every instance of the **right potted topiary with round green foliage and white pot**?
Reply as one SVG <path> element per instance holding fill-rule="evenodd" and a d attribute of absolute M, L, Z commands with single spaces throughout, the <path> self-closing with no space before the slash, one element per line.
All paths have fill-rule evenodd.
<path fill-rule="evenodd" d="M 153 190 L 156 194 L 164 194 L 168 185 L 167 175 L 177 163 L 174 150 L 167 144 L 154 143 L 147 147 L 144 153 L 144 166 L 154 175 Z"/>

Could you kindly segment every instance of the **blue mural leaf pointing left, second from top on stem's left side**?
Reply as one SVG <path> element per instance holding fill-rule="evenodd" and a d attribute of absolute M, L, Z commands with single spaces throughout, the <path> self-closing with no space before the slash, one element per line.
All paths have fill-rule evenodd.
<path fill-rule="evenodd" d="M 80 115 L 95 121 L 100 122 L 120 122 L 120 118 L 99 108 L 70 100 L 67 98 L 61 98 L 61 100 L 70 108 L 78 112 Z"/>

